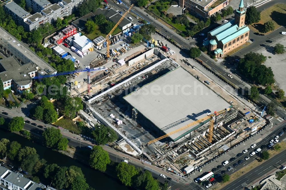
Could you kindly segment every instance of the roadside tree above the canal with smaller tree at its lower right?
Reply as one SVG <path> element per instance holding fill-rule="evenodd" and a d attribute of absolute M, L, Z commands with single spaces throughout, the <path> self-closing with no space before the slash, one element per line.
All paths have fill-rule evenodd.
<path fill-rule="evenodd" d="M 47 147 L 55 147 L 61 139 L 61 130 L 49 127 L 42 134 Z"/>

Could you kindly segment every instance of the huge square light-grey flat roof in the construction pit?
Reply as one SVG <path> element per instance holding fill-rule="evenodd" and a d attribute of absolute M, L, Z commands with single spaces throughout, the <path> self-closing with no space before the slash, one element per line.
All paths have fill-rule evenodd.
<path fill-rule="evenodd" d="M 146 84 L 124 99 L 166 134 L 210 112 L 230 106 L 181 67 Z M 172 134 L 170 138 L 176 141 L 197 125 Z"/>

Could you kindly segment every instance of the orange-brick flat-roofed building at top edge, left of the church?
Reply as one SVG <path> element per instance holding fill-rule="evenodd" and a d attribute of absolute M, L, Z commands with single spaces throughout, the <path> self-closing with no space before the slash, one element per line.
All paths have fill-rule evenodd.
<path fill-rule="evenodd" d="M 221 11 L 229 4 L 229 0 L 180 0 L 180 6 L 186 8 L 190 14 L 205 19 Z"/>

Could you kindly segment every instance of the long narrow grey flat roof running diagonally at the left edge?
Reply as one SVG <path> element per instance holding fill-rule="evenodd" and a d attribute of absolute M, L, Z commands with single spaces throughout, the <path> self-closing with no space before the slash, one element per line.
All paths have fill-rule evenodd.
<path fill-rule="evenodd" d="M 23 63 L 31 61 L 37 64 L 37 66 L 39 66 L 38 72 L 41 73 L 41 75 L 57 73 L 51 65 L 39 58 L 35 52 L 32 52 L 30 48 L 27 48 L 16 38 L 7 33 L 2 27 L 0 27 L 0 37 L 0 44 L 6 47 L 13 55 L 17 56 Z"/>

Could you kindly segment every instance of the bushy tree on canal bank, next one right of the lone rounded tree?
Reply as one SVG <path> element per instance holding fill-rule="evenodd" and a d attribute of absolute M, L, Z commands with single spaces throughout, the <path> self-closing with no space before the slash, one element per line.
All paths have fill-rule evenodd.
<path fill-rule="evenodd" d="M 120 162 L 116 166 L 116 172 L 119 180 L 123 183 L 125 186 L 131 186 L 132 185 L 132 178 L 136 175 L 138 175 L 138 170 L 134 167 L 134 165 L 128 165 L 125 162 Z"/>

